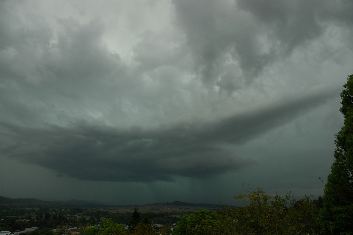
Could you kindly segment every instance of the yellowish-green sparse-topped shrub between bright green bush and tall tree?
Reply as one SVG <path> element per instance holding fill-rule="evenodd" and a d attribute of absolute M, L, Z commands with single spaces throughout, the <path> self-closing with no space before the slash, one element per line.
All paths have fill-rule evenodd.
<path fill-rule="evenodd" d="M 291 192 L 284 197 L 270 196 L 262 189 L 248 190 L 235 199 L 245 206 L 225 207 L 218 211 L 224 234 L 312 234 L 318 233 L 317 206 L 305 196 L 297 201 Z"/>

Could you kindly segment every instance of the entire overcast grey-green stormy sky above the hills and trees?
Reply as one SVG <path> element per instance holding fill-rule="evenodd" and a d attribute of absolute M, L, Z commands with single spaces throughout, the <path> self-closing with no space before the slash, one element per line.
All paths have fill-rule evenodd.
<path fill-rule="evenodd" d="M 0 195 L 321 195 L 352 12 L 346 0 L 1 0 Z"/>

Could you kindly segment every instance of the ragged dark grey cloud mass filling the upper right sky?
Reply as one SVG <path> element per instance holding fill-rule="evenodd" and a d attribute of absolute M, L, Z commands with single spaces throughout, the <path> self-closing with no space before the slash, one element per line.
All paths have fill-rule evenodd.
<path fill-rule="evenodd" d="M 332 22 L 336 27 L 352 23 L 347 14 L 353 8 L 349 1 L 173 3 L 176 22 L 195 59 L 195 72 L 208 86 L 227 92 L 244 88 L 267 65 L 309 46 Z"/>

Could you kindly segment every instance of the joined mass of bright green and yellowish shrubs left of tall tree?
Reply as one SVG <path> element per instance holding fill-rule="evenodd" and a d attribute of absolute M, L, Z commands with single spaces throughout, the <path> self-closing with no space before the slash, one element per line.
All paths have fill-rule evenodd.
<path fill-rule="evenodd" d="M 297 201 L 291 192 L 284 197 L 271 196 L 262 189 L 248 190 L 236 199 L 244 201 L 240 207 L 220 207 L 217 213 L 203 209 L 195 215 L 184 216 L 174 228 L 177 235 L 207 234 L 319 234 L 317 200 L 308 196 Z"/>

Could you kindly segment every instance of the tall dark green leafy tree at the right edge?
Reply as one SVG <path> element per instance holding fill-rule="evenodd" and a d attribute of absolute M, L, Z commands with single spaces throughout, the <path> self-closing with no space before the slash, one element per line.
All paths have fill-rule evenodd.
<path fill-rule="evenodd" d="M 335 135 L 335 161 L 327 176 L 320 223 L 333 234 L 353 234 L 353 75 L 341 91 L 344 122 Z"/>

